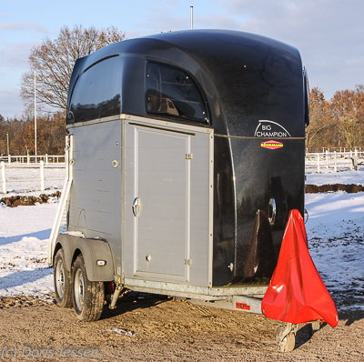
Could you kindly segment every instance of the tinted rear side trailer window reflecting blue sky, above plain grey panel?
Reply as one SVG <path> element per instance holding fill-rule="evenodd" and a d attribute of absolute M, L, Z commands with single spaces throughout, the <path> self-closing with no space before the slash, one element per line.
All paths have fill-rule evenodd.
<path fill-rule="evenodd" d="M 108 58 L 81 74 L 70 101 L 67 123 L 120 114 L 121 65 L 119 57 Z M 73 118 L 73 119 L 72 119 Z"/>

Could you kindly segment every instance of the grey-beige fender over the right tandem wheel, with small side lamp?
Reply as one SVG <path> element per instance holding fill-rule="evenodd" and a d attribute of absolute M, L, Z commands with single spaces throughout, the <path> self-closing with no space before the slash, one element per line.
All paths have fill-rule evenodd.
<path fill-rule="evenodd" d="M 84 256 L 88 280 L 92 282 L 114 280 L 113 256 L 105 239 L 79 237 L 76 239 L 75 252 L 77 249 Z M 105 265 L 97 265 L 98 260 L 104 261 Z"/>

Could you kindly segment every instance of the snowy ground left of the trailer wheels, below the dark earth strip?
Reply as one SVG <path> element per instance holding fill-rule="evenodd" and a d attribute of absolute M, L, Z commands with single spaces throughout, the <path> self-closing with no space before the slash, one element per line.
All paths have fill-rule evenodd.
<path fill-rule="evenodd" d="M 0 206 L 0 297 L 54 291 L 47 263 L 56 204 Z"/>

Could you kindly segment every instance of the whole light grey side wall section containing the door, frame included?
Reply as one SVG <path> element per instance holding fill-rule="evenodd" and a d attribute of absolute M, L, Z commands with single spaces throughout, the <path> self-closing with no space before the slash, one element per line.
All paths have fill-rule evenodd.
<path fill-rule="evenodd" d="M 208 287 L 213 131 L 124 116 L 125 277 Z M 137 216 L 132 203 L 138 198 Z"/>

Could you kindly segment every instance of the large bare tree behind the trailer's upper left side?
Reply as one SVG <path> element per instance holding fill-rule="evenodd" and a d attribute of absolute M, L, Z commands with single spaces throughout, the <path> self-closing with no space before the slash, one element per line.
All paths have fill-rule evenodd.
<path fill-rule="evenodd" d="M 101 30 L 85 29 L 81 25 L 73 29 L 62 27 L 55 41 L 46 38 L 30 52 L 30 70 L 22 78 L 21 96 L 25 106 L 34 102 L 36 72 L 37 104 L 66 110 L 68 84 L 76 60 L 124 39 L 125 33 L 115 27 Z"/>

